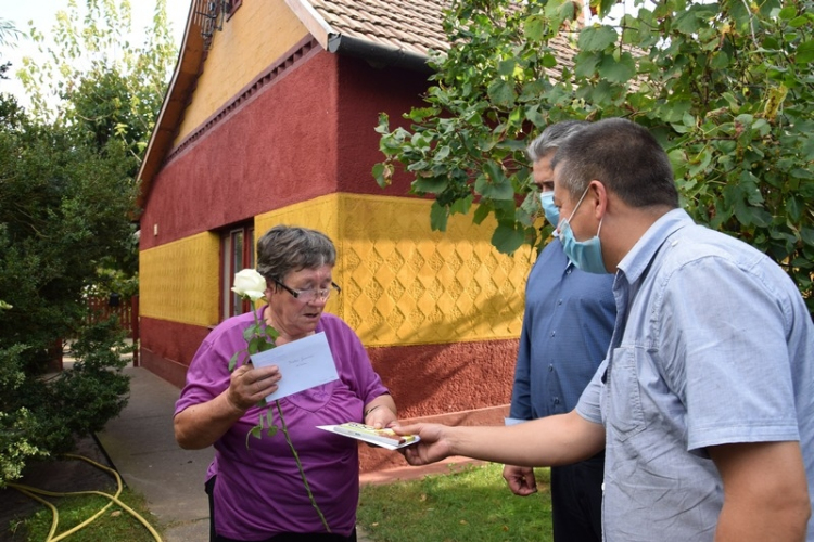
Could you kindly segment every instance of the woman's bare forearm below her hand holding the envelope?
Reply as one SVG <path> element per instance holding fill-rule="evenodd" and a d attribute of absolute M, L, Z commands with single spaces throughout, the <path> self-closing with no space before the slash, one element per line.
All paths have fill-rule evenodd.
<path fill-rule="evenodd" d="M 186 450 L 207 448 L 222 437 L 245 411 L 227 399 L 227 392 L 193 404 L 175 416 L 175 439 Z"/>

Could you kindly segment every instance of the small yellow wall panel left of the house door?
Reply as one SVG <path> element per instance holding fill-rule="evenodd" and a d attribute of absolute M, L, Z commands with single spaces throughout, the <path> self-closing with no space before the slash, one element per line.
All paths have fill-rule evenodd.
<path fill-rule="evenodd" d="M 200 233 L 139 255 L 142 317 L 208 326 L 218 323 L 220 238 Z"/>

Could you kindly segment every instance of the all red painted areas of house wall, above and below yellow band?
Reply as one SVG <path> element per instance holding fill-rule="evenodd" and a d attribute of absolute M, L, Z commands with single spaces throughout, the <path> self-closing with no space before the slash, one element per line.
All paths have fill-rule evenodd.
<path fill-rule="evenodd" d="M 141 249 L 336 191 L 407 193 L 406 175 L 385 191 L 372 178 L 383 159 L 374 127 L 380 112 L 404 124 L 402 114 L 421 105 L 425 76 L 315 51 L 164 166 L 141 219 Z M 150 318 L 141 330 L 142 364 L 182 385 L 208 330 Z M 507 403 L 517 346 L 491 340 L 369 353 L 400 417 L 411 418 Z"/>

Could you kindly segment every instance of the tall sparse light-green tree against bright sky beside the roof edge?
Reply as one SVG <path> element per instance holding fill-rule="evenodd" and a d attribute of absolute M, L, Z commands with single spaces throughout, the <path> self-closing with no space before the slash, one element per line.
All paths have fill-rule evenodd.
<path fill-rule="evenodd" d="M 30 115 L 84 130 L 101 146 L 117 137 L 141 159 L 177 56 L 166 0 L 156 0 L 142 44 L 129 42 L 131 29 L 128 0 L 86 0 L 84 9 L 69 0 L 48 35 L 31 27 L 47 61 L 24 57 L 17 72 L 31 100 Z"/>

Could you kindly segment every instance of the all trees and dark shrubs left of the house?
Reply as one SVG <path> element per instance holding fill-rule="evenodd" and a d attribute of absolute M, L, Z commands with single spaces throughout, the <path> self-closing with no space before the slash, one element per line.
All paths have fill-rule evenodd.
<path fill-rule="evenodd" d="M 126 0 L 85 9 L 59 12 L 49 60 L 16 72 L 30 111 L 0 94 L 0 487 L 101 430 L 129 391 L 124 332 L 88 324 L 87 298 L 137 292 L 136 176 L 175 46 L 165 0 L 141 48 Z M 16 31 L 0 25 L 0 55 Z M 63 339 L 76 362 L 53 373 Z"/>

